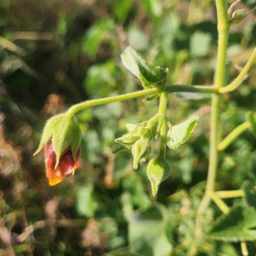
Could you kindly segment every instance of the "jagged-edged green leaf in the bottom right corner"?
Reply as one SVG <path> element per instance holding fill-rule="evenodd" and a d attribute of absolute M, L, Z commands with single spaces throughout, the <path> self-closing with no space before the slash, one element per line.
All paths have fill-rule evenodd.
<path fill-rule="evenodd" d="M 237 205 L 221 215 L 213 224 L 208 236 L 225 242 L 256 240 L 256 211 L 253 207 Z"/>

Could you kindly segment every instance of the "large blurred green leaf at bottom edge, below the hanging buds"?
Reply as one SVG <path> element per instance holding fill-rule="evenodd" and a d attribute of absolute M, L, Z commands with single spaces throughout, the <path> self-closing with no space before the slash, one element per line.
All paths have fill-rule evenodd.
<path fill-rule="evenodd" d="M 131 250 L 147 256 L 170 255 L 172 244 L 166 238 L 165 224 L 164 213 L 157 205 L 132 215 L 128 226 Z"/>

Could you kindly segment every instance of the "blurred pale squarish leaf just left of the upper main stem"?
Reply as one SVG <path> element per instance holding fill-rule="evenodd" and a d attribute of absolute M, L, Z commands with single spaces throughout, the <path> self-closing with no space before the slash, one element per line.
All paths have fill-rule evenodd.
<path fill-rule="evenodd" d="M 190 38 L 190 52 L 196 57 L 204 57 L 208 55 L 212 35 L 196 31 Z"/>

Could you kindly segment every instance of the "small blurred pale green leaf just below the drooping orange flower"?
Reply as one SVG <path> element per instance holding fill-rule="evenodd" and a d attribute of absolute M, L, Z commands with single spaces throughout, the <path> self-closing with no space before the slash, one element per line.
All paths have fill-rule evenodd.
<path fill-rule="evenodd" d="M 97 209 L 97 202 L 93 198 L 93 184 L 87 183 L 79 187 L 76 194 L 76 211 L 79 215 L 87 218 L 93 218 Z"/>

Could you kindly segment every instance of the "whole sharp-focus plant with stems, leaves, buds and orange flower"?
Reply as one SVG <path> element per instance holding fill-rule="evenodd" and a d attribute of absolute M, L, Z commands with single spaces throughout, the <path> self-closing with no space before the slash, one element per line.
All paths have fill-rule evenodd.
<path fill-rule="evenodd" d="M 245 12 L 231 13 L 233 5 L 227 10 L 225 0 L 215 0 L 218 18 L 218 55 L 213 85 L 166 85 L 169 69 L 149 64 L 137 54 L 131 47 L 127 47 L 121 54 L 122 64 L 140 79 L 143 90 L 126 93 L 119 96 L 93 99 L 71 106 L 67 112 L 53 116 L 46 123 L 37 154 L 45 148 L 46 175 L 49 185 L 58 184 L 63 178 L 73 173 L 79 166 L 81 129 L 74 116 L 77 111 L 90 108 L 96 105 L 108 104 L 111 102 L 124 101 L 137 97 L 148 96 L 147 100 L 159 97 L 159 109 L 150 119 L 140 124 L 126 124 L 127 133 L 115 140 L 118 143 L 114 152 L 131 150 L 133 155 L 133 167 L 137 169 L 140 163 L 146 162 L 151 152 L 151 141 L 159 139 L 159 150 L 157 156 L 149 160 L 147 175 L 151 183 L 152 194 L 157 195 L 160 183 L 171 175 L 172 170 L 166 160 L 166 147 L 175 150 L 189 139 L 194 131 L 198 116 L 190 116 L 186 121 L 173 125 L 166 115 L 168 94 L 175 92 L 190 93 L 210 93 L 212 96 L 211 105 L 211 130 L 209 139 L 209 169 L 206 183 L 206 191 L 198 207 L 198 216 L 204 214 L 209 202 L 212 200 L 224 212 L 224 217 L 214 224 L 208 236 L 214 239 L 234 241 L 234 234 L 229 236 L 218 233 L 221 229 L 221 221 L 229 218 L 236 211 L 243 211 L 243 215 L 252 215 L 256 219 L 256 212 L 252 213 L 250 208 L 236 207 L 229 209 L 221 198 L 239 197 L 244 195 L 243 191 L 228 191 L 225 196 L 223 193 L 216 192 L 214 188 L 216 171 L 218 169 L 218 151 L 223 151 L 227 146 L 246 129 L 256 134 L 256 113 L 248 113 L 247 120 L 235 128 L 231 133 L 219 143 L 220 126 L 220 104 L 223 93 L 228 93 L 239 87 L 247 78 L 247 73 L 256 58 L 256 48 L 253 50 L 247 64 L 241 69 L 239 75 L 230 84 L 224 84 L 224 72 L 227 52 L 228 32 L 231 25 L 240 22 L 245 16 Z M 168 130 L 167 130 L 168 129 Z M 227 194 L 229 196 L 227 196 Z M 231 216 L 232 217 L 232 216 Z M 231 218 L 230 217 L 230 218 Z M 254 218 L 253 217 L 253 218 Z M 201 219 L 196 221 L 198 227 L 201 226 Z M 245 232 L 245 231 L 244 231 Z M 249 231 L 248 231 L 249 232 Z M 256 232 L 254 230 L 254 232 Z M 248 235 L 249 233 L 247 233 Z M 235 234 L 236 235 L 236 234 Z M 224 237 L 225 236 L 225 237 Z M 253 238 L 251 238 L 253 236 Z M 224 238 L 223 238 L 224 237 Z M 239 236 L 236 241 L 241 242 L 241 248 L 246 255 L 245 241 L 256 239 L 255 234 Z"/>

